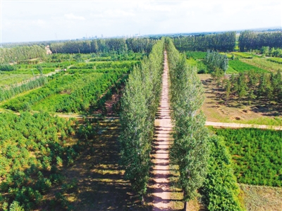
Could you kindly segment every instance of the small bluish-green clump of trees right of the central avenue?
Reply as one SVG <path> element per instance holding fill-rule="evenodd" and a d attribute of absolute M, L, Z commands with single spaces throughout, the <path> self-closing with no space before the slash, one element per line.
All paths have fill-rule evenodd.
<path fill-rule="evenodd" d="M 207 51 L 205 61 L 213 68 L 220 68 L 224 72 L 228 69 L 228 58 L 216 51 Z"/>

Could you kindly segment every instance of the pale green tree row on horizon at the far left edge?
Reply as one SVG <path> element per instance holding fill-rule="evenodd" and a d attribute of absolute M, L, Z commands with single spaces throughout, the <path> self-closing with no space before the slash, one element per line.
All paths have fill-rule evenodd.
<path fill-rule="evenodd" d="M 46 57 L 44 46 L 18 46 L 12 49 L 0 48 L 0 64 L 44 57 Z"/>

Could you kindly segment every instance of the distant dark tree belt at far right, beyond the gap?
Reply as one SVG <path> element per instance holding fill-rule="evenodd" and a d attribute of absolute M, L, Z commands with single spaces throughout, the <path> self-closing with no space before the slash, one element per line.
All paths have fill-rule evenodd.
<path fill-rule="evenodd" d="M 261 49 L 263 46 L 282 48 L 282 32 L 252 32 L 246 30 L 240 32 L 238 41 L 240 51 Z"/>

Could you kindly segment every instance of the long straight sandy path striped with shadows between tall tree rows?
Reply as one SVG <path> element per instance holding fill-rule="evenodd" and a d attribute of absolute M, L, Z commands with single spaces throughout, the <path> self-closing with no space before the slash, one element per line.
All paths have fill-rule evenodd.
<path fill-rule="evenodd" d="M 168 148 L 171 140 L 171 117 L 168 99 L 168 65 L 166 51 L 164 52 L 164 73 L 162 75 L 162 90 L 157 117 L 154 122 L 155 139 L 152 147 L 152 210 L 170 210 L 171 192 L 169 191 L 169 159 Z"/>

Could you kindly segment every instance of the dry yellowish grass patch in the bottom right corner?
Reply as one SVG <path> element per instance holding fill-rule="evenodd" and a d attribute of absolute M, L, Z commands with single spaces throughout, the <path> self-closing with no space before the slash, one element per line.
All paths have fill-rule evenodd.
<path fill-rule="evenodd" d="M 246 210 L 281 210 L 282 188 L 239 184 L 241 203 Z"/>

